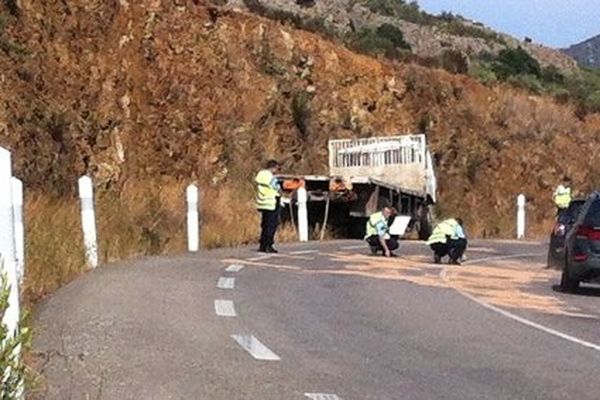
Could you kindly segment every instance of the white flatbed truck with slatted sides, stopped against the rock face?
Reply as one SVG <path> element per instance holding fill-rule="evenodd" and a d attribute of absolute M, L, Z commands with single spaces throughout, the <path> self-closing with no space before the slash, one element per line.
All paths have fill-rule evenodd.
<path fill-rule="evenodd" d="M 430 206 L 436 202 L 437 180 L 425 135 L 330 140 L 329 176 L 302 179 L 310 202 L 344 203 L 330 221 L 339 224 L 340 218 L 349 218 L 347 225 L 357 230 L 352 236 L 364 234 L 365 218 L 384 205 L 396 207 L 401 219 L 410 221 L 408 230 L 420 239 L 431 232 Z"/>

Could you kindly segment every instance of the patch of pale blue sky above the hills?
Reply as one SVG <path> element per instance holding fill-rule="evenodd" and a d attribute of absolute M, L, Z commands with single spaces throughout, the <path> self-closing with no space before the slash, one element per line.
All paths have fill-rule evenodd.
<path fill-rule="evenodd" d="M 567 47 L 600 34 L 600 0 L 418 0 L 422 9 L 452 11 L 517 38 Z"/>

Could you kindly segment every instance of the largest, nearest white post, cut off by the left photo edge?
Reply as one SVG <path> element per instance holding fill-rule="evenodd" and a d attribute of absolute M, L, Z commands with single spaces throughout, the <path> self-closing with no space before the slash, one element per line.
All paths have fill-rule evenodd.
<path fill-rule="evenodd" d="M 18 333 L 20 319 L 11 178 L 10 152 L 0 147 L 0 270 L 10 286 L 8 309 L 2 323 L 6 325 L 9 337 Z"/>

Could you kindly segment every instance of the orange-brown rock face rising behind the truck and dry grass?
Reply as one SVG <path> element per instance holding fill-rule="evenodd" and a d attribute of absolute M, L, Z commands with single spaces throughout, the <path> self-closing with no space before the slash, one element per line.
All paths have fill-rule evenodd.
<path fill-rule="evenodd" d="M 328 139 L 405 132 L 427 134 L 437 212 L 463 214 L 472 235 L 512 235 L 521 192 L 532 232 L 545 234 L 563 175 L 581 190 L 600 183 L 599 118 L 549 99 L 357 55 L 199 0 L 2 12 L 0 144 L 30 189 L 66 195 L 89 173 L 108 187 L 168 176 L 250 192 L 268 158 L 326 173 Z"/>

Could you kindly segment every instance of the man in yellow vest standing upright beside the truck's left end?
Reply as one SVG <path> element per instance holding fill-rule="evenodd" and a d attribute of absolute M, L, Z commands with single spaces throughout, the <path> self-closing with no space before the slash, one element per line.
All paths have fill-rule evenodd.
<path fill-rule="evenodd" d="M 262 214 L 260 248 L 263 253 L 277 253 L 273 248 L 275 233 L 279 224 L 279 197 L 281 187 L 275 174 L 279 172 L 279 163 L 275 160 L 267 162 L 265 169 L 256 175 L 256 208 Z"/>

